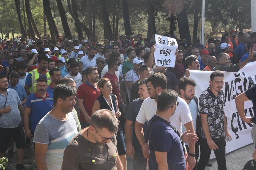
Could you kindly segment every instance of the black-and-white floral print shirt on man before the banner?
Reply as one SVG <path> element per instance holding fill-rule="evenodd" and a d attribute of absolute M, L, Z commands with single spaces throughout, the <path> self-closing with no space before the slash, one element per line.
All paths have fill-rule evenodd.
<path fill-rule="evenodd" d="M 220 138 L 225 136 L 224 109 L 225 94 L 223 90 L 216 97 L 209 89 L 203 91 L 199 97 L 199 113 L 207 114 L 207 121 L 211 138 Z M 200 127 L 200 137 L 205 139 L 202 127 Z"/>

